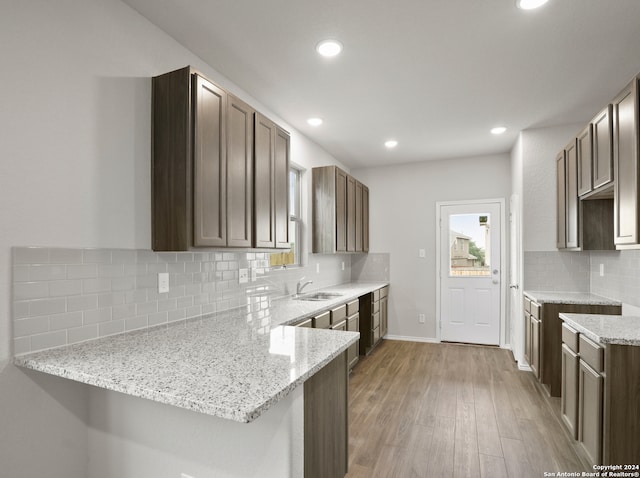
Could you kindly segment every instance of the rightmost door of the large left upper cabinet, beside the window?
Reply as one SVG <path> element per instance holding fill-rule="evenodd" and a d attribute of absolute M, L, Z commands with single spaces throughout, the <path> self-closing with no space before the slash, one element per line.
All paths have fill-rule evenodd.
<path fill-rule="evenodd" d="M 274 229 L 276 247 L 288 249 L 289 244 L 289 133 L 276 127 L 274 156 Z"/>

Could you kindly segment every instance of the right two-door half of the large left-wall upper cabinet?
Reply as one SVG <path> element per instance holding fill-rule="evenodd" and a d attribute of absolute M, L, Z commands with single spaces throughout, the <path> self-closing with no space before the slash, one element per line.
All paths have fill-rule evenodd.
<path fill-rule="evenodd" d="M 256 113 L 255 247 L 289 247 L 289 134 Z"/>

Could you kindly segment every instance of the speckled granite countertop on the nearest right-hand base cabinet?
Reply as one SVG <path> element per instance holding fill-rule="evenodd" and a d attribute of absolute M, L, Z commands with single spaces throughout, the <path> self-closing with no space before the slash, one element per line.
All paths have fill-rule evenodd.
<path fill-rule="evenodd" d="M 640 317 L 562 313 L 560 318 L 567 325 L 602 345 L 640 346 Z"/>

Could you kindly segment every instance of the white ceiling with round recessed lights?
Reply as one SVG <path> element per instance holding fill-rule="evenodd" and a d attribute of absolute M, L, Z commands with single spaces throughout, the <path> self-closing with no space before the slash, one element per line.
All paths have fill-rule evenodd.
<path fill-rule="evenodd" d="M 124 1 L 351 167 L 504 153 L 640 72 L 640 0 Z"/>

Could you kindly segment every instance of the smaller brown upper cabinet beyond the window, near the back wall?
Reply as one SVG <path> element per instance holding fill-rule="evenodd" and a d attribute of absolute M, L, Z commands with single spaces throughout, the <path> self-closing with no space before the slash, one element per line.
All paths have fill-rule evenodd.
<path fill-rule="evenodd" d="M 368 188 L 336 166 L 313 168 L 311 181 L 313 252 L 367 252 Z"/>

